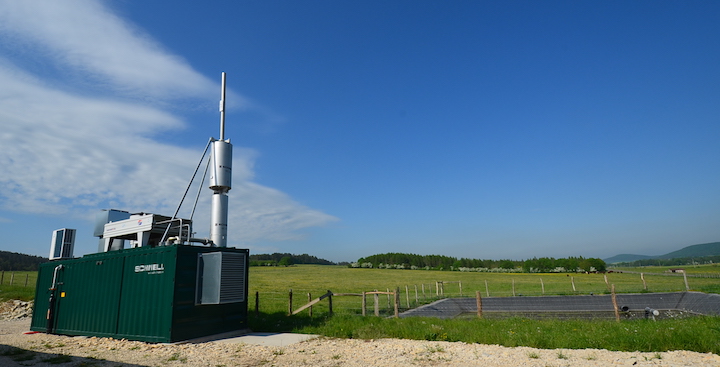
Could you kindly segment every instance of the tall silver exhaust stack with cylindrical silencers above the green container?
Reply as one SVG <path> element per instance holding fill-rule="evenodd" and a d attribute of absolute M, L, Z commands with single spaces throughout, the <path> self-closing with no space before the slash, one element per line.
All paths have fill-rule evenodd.
<path fill-rule="evenodd" d="M 211 153 L 210 239 L 214 246 L 227 247 L 228 196 L 232 182 L 232 144 L 225 140 L 225 72 L 222 73 L 220 97 L 220 139 L 213 139 Z"/>

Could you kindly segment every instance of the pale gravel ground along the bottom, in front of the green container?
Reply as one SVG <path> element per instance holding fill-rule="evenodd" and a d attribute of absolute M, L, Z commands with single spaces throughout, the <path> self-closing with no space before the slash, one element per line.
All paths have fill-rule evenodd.
<path fill-rule="evenodd" d="M 317 338 L 283 347 L 242 343 L 152 344 L 25 334 L 30 318 L 0 320 L 1 366 L 720 366 L 688 351 L 545 350 L 401 339 Z"/>

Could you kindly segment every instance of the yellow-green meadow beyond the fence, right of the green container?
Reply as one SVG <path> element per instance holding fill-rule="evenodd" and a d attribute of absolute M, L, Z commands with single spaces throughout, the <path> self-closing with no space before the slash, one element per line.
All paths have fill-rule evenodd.
<path fill-rule="evenodd" d="M 607 277 L 607 283 L 605 279 Z M 434 270 L 359 269 L 343 266 L 298 265 L 292 267 L 250 268 L 250 294 L 260 294 L 260 310 L 281 312 L 288 310 L 288 293 L 293 290 L 293 309 L 307 303 L 307 294 L 318 297 L 328 290 L 334 293 L 386 291 L 400 288 L 401 308 L 417 306 L 437 299 L 436 282 L 442 281 L 446 296 L 474 297 L 480 291 L 483 297 L 604 294 L 614 284 L 618 293 L 684 291 L 682 275 L 669 275 L 662 271 L 645 272 L 643 283 L 640 274 L 528 274 L 528 273 L 474 273 Z M 574 285 L 574 288 L 573 288 Z M 688 278 L 691 290 L 720 293 L 720 278 Z M 406 293 L 406 287 L 408 293 Z M 417 297 L 416 289 L 417 287 Z M 647 287 L 647 289 L 645 289 Z M 425 293 L 423 294 L 423 288 Z M 380 296 L 388 308 L 387 296 Z M 415 302 L 415 300 L 419 302 Z M 254 301 L 253 301 L 254 302 Z M 360 297 L 336 297 L 336 312 L 361 313 Z M 251 304 L 254 307 L 254 303 Z M 317 307 L 323 310 L 322 304 Z M 368 307 L 371 307 L 368 305 Z M 322 311 L 321 311 L 322 312 Z"/>

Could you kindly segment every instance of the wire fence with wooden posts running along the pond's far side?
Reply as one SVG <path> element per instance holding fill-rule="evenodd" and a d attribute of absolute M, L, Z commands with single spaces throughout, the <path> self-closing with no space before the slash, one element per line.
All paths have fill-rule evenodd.
<path fill-rule="evenodd" d="M 689 279 L 690 278 L 690 279 Z M 703 279 L 706 278 L 706 279 Z M 296 313 L 322 316 L 331 313 L 356 315 L 392 316 L 421 305 L 445 298 L 475 298 L 476 292 L 482 297 L 527 297 L 551 295 L 602 295 L 610 294 L 612 286 L 618 293 L 655 293 L 698 290 L 720 291 L 716 277 L 692 277 L 687 274 L 668 276 L 659 273 L 596 274 L 575 276 L 572 274 L 547 274 L 533 277 L 508 274 L 502 281 L 497 278 L 480 283 L 463 281 L 436 281 L 434 283 L 409 284 L 383 289 L 318 289 L 296 288 L 287 291 L 255 291 L 254 300 L 249 300 L 250 312 Z M 365 294 L 363 292 L 372 292 Z M 329 294 L 330 299 L 317 300 Z M 363 300 L 364 299 L 364 300 Z M 317 300 L 312 305 L 308 303 Z M 532 301 L 530 301 L 532 302 Z M 397 304 L 397 306 L 396 306 Z"/>

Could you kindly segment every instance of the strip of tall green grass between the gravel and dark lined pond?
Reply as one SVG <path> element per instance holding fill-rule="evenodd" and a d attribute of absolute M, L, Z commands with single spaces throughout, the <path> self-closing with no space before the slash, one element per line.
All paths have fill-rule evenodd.
<path fill-rule="evenodd" d="M 354 339 L 404 338 L 527 346 L 720 354 L 720 317 L 682 320 L 403 319 L 340 315 L 295 331 Z"/>

